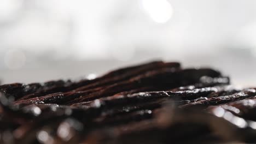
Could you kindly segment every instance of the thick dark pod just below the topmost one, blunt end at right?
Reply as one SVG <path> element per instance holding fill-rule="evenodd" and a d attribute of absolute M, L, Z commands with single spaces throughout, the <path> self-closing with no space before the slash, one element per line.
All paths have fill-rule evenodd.
<path fill-rule="evenodd" d="M 195 74 L 199 73 L 199 74 Z M 202 76 L 219 76 L 218 71 L 212 69 L 185 69 L 185 70 L 174 70 L 174 69 L 162 69 L 149 71 L 146 74 L 133 77 L 128 81 L 115 83 L 110 85 L 100 92 L 91 93 L 84 95 L 78 99 L 71 101 L 68 104 L 80 103 L 83 101 L 90 101 L 100 97 L 107 97 L 108 95 L 114 95 L 121 91 L 129 91 L 142 86 L 155 86 L 166 88 L 173 88 L 182 85 L 190 85 L 200 81 Z"/>

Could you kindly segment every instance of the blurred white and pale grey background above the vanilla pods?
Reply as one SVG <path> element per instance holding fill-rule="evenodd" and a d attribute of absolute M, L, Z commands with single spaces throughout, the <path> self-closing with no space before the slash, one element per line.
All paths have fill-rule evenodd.
<path fill-rule="evenodd" d="M 164 59 L 253 86 L 255 8 L 253 0 L 0 0 L 0 79 L 78 79 Z"/>

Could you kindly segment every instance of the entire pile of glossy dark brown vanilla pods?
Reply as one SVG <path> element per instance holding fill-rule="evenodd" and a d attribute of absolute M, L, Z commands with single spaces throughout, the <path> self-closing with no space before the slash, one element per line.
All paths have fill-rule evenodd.
<path fill-rule="evenodd" d="M 155 61 L 79 81 L 0 86 L 0 143 L 256 142 L 256 88 Z"/>

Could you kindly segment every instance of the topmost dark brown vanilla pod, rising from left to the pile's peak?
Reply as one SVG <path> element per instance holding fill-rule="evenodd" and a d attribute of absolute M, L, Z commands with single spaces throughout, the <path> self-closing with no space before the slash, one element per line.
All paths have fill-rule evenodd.
<path fill-rule="evenodd" d="M 110 82 L 117 82 L 117 81 L 126 79 L 127 77 L 138 75 L 139 73 L 143 73 L 148 70 L 154 70 L 154 69 L 160 69 L 160 68 L 179 68 L 179 66 L 180 64 L 176 62 L 173 62 L 173 63 L 164 63 L 161 61 L 150 62 L 147 64 L 137 65 L 136 67 L 131 67 L 131 68 L 128 67 L 124 69 L 114 70 L 106 75 L 97 77 L 96 79 L 93 79 L 93 80 L 88 80 L 88 79 L 84 79 L 80 81 L 59 80 L 59 81 L 49 81 L 45 83 L 31 83 L 28 85 L 18 83 L 20 85 L 19 93 L 9 92 L 7 94 L 15 95 L 16 99 L 22 100 L 26 98 L 41 97 L 42 95 L 46 95 L 50 93 L 67 92 L 73 89 L 77 89 L 76 91 L 82 91 L 82 90 L 84 91 L 86 90 L 86 88 L 83 88 L 83 87 L 85 86 L 87 87 L 87 85 L 90 85 L 90 84 L 94 86 L 97 85 L 96 87 L 98 87 Z M 95 84 L 92 84 L 92 83 L 95 83 Z M 100 85 L 98 85 L 97 83 L 100 83 Z M 24 96 L 25 98 L 22 98 Z"/>

